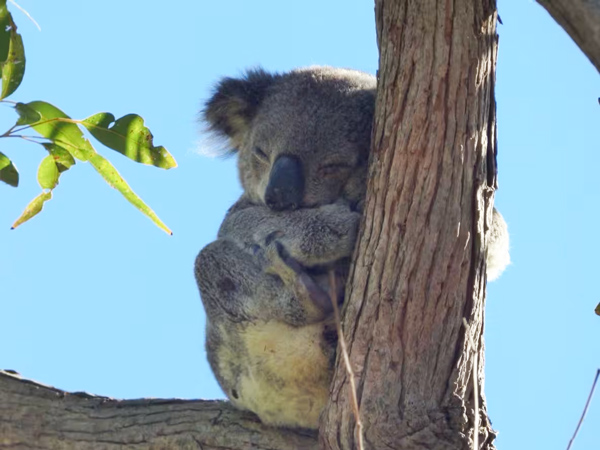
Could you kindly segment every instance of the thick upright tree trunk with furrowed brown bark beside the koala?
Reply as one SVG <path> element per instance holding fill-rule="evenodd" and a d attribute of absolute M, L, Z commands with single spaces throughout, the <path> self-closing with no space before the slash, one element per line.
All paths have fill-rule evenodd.
<path fill-rule="evenodd" d="M 496 183 L 496 5 L 375 4 L 373 150 L 343 320 L 365 447 L 465 450 L 474 430 L 475 352 L 483 390 L 483 240 Z M 357 448 L 348 389 L 338 359 L 321 424 L 325 448 Z M 492 449 L 482 396 L 478 402 L 479 448 Z"/>

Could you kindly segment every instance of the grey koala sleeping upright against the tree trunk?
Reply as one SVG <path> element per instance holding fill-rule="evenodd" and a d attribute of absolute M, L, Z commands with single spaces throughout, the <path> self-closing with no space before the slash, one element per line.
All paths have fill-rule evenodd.
<path fill-rule="evenodd" d="M 208 360 L 231 402 L 266 424 L 318 428 L 327 401 L 375 93 L 358 71 L 258 69 L 222 79 L 203 111 L 237 153 L 243 187 L 196 258 Z M 495 210 L 487 262 L 488 279 L 509 262 Z"/>

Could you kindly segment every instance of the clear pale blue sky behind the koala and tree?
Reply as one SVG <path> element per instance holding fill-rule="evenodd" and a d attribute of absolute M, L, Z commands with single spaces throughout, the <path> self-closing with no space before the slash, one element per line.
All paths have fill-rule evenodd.
<path fill-rule="evenodd" d="M 5 140 L 21 172 L 0 186 L 0 366 L 118 398 L 219 398 L 204 353 L 195 255 L 240 194 L 233 159 L 198 153 L 197 113 L 223 75 L 310 64 L 374 73 L 371 1 L 164 3 L 21 0 L 27 72 L 13 100 L 75 118 L 144 117 L 179 163 L 164 172 L 98 147 L 174 231 L 167 236 L 86 164 L 41 215 L 10 225 L 39 192 L 44 156 Z M 151 6 L 156 4 L 157 6 Z M 600 366 L 600 79 L 535 2 L 502 0 L 496 205 L 513 264 L 488 289 L 486 387 L 499 448 L 563 449 Z M 15 120 L 0 105 L 0 123 Z M 596 397 L 574 450 L 597 448 Z"/>

